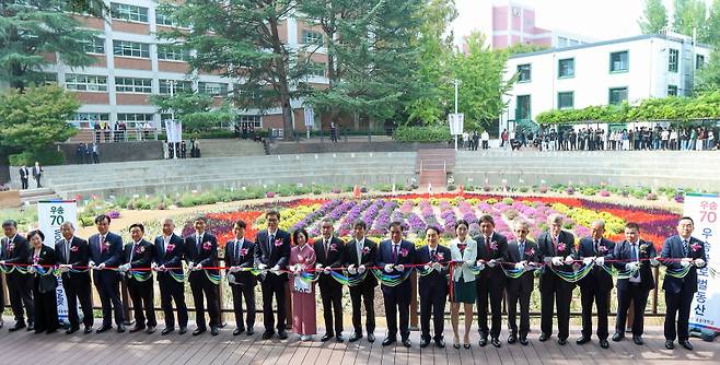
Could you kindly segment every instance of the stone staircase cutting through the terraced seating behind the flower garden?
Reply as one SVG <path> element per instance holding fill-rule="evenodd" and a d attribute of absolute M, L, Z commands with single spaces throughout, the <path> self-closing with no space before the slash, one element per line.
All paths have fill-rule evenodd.
<path fill-rule="evenodd" d="M 445 188 L 448 175 L 455 168 L 455 150 L 419 150 L 415 172 L 419 174 L 420 189 L 431 184 L 433 188 Z"/>

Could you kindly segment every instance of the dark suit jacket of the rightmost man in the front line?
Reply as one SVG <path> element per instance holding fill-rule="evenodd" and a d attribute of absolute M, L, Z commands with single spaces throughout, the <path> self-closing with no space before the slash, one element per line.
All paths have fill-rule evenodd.
<path fill-rule="evenodd" d="M 688 243 L 687 256 L 685 256 L 683 249 L 683 238 L 675 235 L 665 239 L 665 244 L 662 246 L 662 251 L 660 257 L 663 259 L 680 259 L 688 257 L 693 260 L 702 259 L 707 262 L 707 257 L 705 255 L 705 244 L 695 238 L 690 237 Z M 682 266 L 678 261 L 661 261 L 669 269 L 681 269 Z M 690 293 L 697 292 L 697 268 L 690 263 L 690 271 L 685 278 L 673 278 L 671 275 L 665 275 L 665 280 L 662 283 L 662 289 L 665 293 L 680 293 L 683 289 L 689 290 Z"/>

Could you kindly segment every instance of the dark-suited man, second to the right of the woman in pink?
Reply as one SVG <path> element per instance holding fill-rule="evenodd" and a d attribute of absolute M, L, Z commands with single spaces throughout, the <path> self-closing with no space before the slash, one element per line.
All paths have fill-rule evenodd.
<path fill-rule="evenodd" d="M 368 224 L 363 220 L 357 220 L 353 224 L 353 239 L 346 246 L 345 264 L 348 268 L 350 279 L 358 279 L 364 274 L 365 278 L 356 286 L 350 286 L 350 301 L 352 302 L 352 328 L 355 333 L 350 335 L 349 342 L 362 339 L 361 306 L 365 306 L 365 330 L 368 342 L 375 342 L 375 286 L 378 279 L 368 268 L 375 266 L 378 257 L 378 244 L 365 237 Z"/>

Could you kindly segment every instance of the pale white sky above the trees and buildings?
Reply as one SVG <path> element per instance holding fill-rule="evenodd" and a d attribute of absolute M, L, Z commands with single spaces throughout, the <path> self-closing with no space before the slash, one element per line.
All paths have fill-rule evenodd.
<path fill-rule="evenodd" d="M 469 34 L 477 25 L 477 12 L 497 0 L 455 0 L 458 16 L 453 30 L 455 38 Z M 535 24 L 585 35 L 594 40 L 629 37 L 640 34 L 638 20 L 643 0 L 513 0 L 535 8 Z M 502 1 L 499 1 L 502 2 Z M 507 0 L 506 0 L 507 2 Z M 711 0 L 706 0 L 710 5 Z M 672 14 L 672 0 L 663 0 Z M 669 15 L 672 19 L 672 15 Z"/>

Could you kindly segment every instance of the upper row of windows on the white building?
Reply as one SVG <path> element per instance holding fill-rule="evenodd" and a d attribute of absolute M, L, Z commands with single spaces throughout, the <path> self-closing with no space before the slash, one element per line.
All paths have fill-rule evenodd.
<path fill-rule="evenodd" d="M 680 63 L 680 51 L 670 49 L 667 56 L 667 71 L 677 72 Z M 696 55 L 695 68 L 700 69 L 705 63 L 705 56 Z M 627 50 L 609 54 L 609 72 L 619 73 L 629 70 L 629 54 Z M 574 58 L 558 60 L 558 79 L 574 78 Z M 530 63 L 518 64 L 518 82 L 530 82 L 532 80 L 532 66 Z"/>

